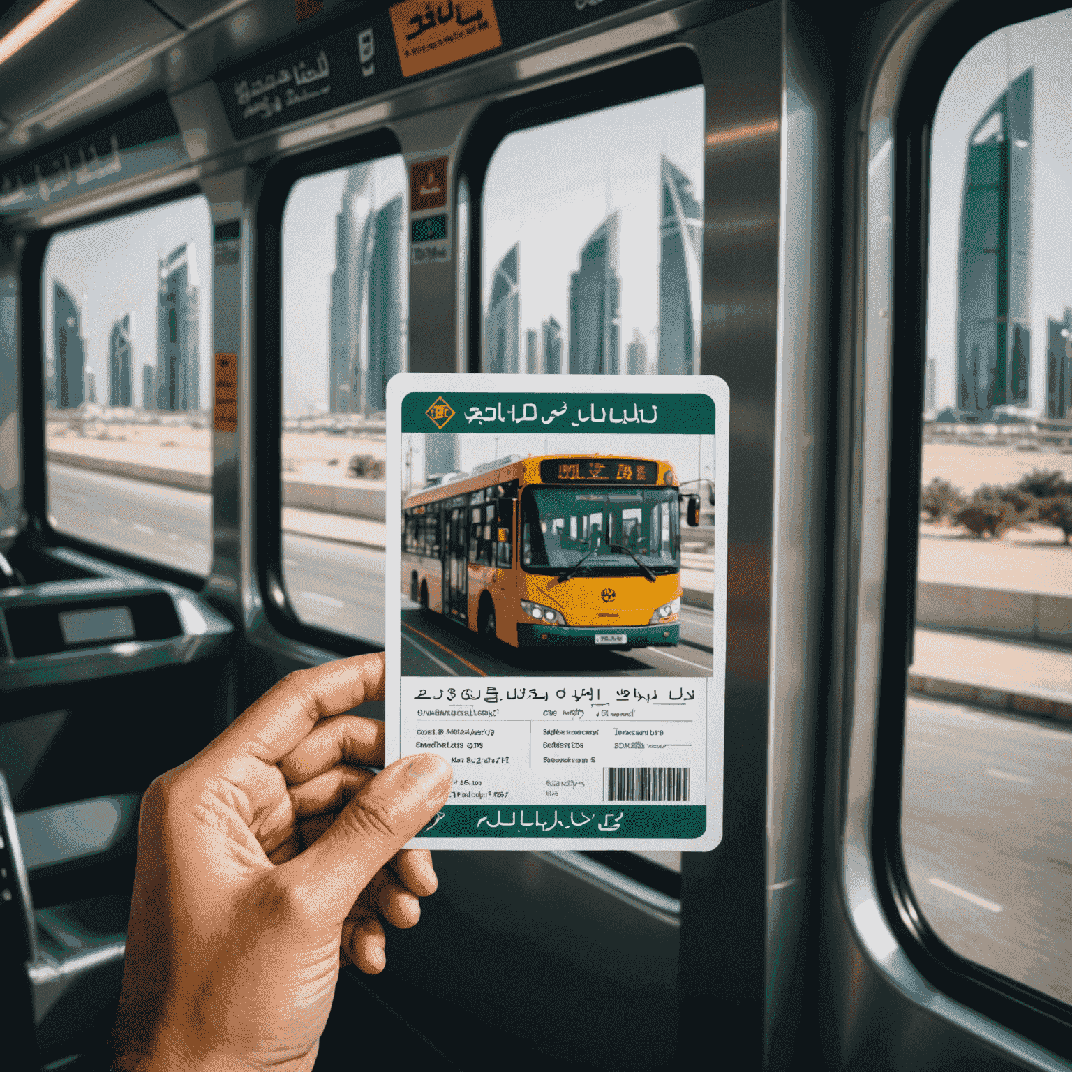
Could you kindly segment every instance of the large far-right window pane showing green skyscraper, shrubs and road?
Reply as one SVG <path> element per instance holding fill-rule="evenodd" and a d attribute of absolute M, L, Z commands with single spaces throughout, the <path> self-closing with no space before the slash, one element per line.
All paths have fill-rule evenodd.
<path fill-rule="evenodd" d="M 902 836 L 962 956 L 1072 1001 L 1072 12 L 953 72 L 932 142 Z"/>

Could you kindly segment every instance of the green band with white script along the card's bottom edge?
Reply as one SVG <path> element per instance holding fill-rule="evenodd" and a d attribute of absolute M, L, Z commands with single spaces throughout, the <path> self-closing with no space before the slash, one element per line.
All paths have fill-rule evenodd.
<path fill-rule="evenodd" d="M 579 807 L 487 807 L 448 804 L 419 837 L 700 837 L 702 804 L 598 804 Z"/>

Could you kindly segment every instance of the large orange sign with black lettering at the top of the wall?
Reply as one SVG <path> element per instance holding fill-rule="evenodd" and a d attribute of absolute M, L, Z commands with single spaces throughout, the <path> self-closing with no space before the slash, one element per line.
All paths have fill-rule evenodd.
<path fill-rule="evenodd" d="M 434 5 L 402 0 L 391 8 L 391 28 L 406 78 L 503 44 L 492 0 L 447 0 Z"/>

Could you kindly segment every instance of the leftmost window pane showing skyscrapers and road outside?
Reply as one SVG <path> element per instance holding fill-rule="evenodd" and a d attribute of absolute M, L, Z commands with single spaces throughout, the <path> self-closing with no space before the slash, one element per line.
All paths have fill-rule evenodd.
<path fill-rule="evenodd" d="M 65 230 L 42 288 L 48 513 L 207 575 L 211 223 L 203 197 Z"/>

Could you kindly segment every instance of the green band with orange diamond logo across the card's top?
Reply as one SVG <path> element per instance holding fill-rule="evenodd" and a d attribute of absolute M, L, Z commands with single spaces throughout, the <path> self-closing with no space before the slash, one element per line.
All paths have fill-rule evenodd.
<path fill-rule="evenodd" d="M 710 435 L 709 394 L 607 391 L 557 393 L 411 391 L 402 399 L 403 432 Z"/>

